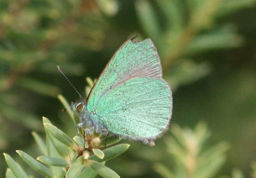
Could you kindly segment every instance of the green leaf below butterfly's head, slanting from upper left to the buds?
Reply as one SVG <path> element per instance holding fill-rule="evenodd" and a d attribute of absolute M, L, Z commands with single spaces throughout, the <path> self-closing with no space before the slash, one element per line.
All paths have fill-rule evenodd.
<path fill-rule="evenodd" d="M 67 147 L 70 147 L 71 149 L 74 149 L 77 151 L 78 146 L 76 142 L 72 140 L 72 138 L 68 137 L 67 134 L 65 134 L 63 131 L 56 128 L 56 126 L 53 126 L 51 124 L 44 124 L 45 129 L 49 131 L 55 138 L 57 138 L 61 143 L 67 145 Z"/>

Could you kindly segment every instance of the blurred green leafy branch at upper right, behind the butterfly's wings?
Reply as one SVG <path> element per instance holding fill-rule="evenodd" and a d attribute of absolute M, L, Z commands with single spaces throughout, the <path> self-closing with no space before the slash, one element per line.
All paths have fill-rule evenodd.
<path fill-rule="evenodd" d="M 193 55 L 207 50 L 239 47 L 243 38 L 228 24 L 216 24 L 216 19 L 232 13 L 255 1 L 209 0 L 179 1 L 157 0 L 164 22 L 157 20 L 156 8 L 146 0 L 136 1 L 136 10 L 143 30 L 159 47 L 166 71 L 166 80 L 172 89 L 194 82 L 211 72 L 211 64 L 190 60 Z M 188 8 L 186 15 L 184 8 Z M 164 25 L 162 25 L 164 23 Z M 161 28 L 161 25 L 163 26 Z M 179 59 L 179 61 L 178 61 Z"/>

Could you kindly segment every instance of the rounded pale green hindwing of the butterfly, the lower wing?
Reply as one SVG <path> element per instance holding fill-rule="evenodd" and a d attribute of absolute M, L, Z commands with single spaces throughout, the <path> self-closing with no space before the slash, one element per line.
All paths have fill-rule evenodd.
<path fill-rule="evenodd" d="M 163 79 L 132 78 L 109 91 L 95 114 L 112 133 L 136 140 L 154 139 L 170 121 L 172 93 Z"/>

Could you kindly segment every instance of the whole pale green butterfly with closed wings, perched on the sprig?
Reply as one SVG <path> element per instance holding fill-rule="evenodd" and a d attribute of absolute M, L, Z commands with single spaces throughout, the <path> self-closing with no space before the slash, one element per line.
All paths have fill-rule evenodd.
<path fill-rule="evenodd" d="M 149 38 L 131 38 L 115 52 L 88 95 L 73 103 L 79 127 L 154 145 L 172 117 L 172 92 Z"/>

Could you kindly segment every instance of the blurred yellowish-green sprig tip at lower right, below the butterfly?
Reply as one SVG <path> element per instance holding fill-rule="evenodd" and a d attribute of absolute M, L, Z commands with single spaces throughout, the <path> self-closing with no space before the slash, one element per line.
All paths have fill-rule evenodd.
<path fill-rule="evenodd" d="M 206 148 L 209 131 L 205 124 L 195 130 L 172 126 L 172 138 L 166 138 L 167 152 L 173 160 L 172 170 L 161 163 L 154 165 L 162 177 L 214 177 L 226 159 L 227 144 L 222 142 Z"/>

